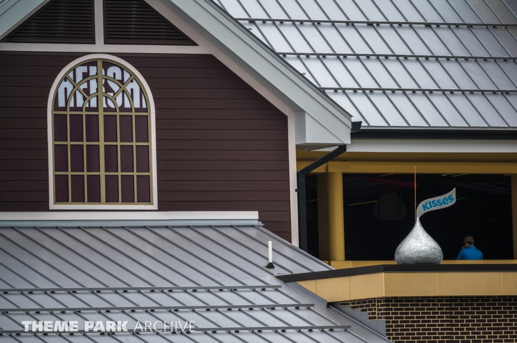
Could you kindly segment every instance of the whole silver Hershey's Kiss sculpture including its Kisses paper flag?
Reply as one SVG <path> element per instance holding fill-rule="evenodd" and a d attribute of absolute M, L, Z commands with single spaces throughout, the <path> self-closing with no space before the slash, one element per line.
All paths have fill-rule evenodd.
<path fill-rule="evenodd" d="M 440 264 L 444 259 L 442 249 L 436 241 L 423 230 L 420 217 L 427 211 L 449 207 L 456 202 L 456 189 L 454 188 L 441 197 L 428 199 L 420 203 L 417 208 L 417 221 L 413 230 L 399 244 L 395 251 L 395 261 L 399 265 L 404 264 Z"/>

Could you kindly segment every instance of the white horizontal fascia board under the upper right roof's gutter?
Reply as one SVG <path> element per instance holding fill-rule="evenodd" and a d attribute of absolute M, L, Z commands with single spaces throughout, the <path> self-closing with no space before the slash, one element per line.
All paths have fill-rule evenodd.
<path fill-rule="evenodd" d="M 334 147 L 318 149 L 332 151 Z M 517 153 L 510 139 L 352 139 L 347 152 L 364 153 Z"/>

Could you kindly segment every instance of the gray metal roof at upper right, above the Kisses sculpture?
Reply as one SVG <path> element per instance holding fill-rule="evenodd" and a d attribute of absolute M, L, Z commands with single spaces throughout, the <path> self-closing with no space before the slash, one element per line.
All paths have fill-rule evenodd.
<path fill-rule="evenodd" d="M 365 128 L 517 128 L 517 2 L 215 1 Z"/>

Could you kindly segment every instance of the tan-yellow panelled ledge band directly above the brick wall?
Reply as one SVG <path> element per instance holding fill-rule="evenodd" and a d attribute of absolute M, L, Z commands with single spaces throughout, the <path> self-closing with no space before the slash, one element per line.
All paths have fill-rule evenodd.
<path fill-rule="evenodd" d="M 328 302 L 382 297 L 515 296 L 517 272 L 381 272 L 297 281 Z"/>

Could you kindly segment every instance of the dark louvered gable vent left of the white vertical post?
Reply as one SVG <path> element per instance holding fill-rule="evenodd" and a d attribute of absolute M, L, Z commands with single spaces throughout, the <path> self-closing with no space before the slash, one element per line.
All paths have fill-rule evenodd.
<path fill-rule="evenodd" d="M 94 0 L 53 0 L 3 42 L 93 44 Z"/>

